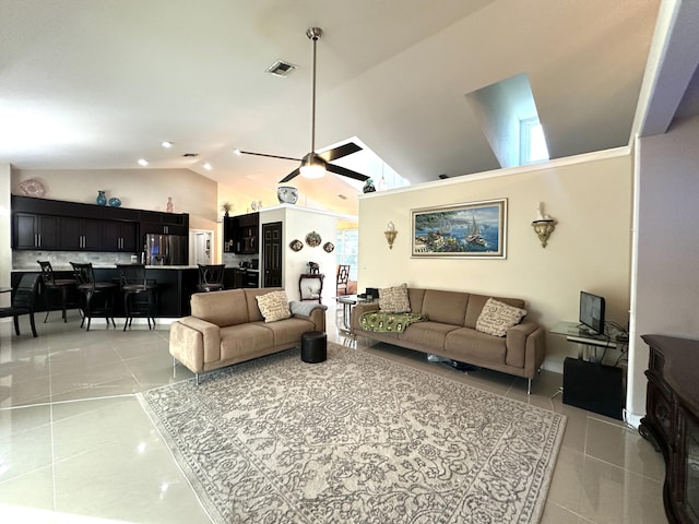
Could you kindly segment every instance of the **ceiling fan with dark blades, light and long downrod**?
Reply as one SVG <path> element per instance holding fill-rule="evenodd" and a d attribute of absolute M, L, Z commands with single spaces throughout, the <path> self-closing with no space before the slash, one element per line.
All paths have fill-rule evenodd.
<path fill-rule="evenodd" d="M 316 44 L 323 34 L 320 27 L 309 27 L 306 29 L 306 36 L 313 43 L 313 81 L 311 92 L 311 121 L 310 121 L 310 153 L 306 154 L 303 158 L 292 158 L 289 156 L 268 155 L 265 153 L 252 153 L 250 151 L 236 150 L 236 154 L 242 155 L 256 155 L 266 156 L 270 158 L 283 158 L 286 160 L 300 162 L 300 165 L 289 172 L 286 177 L 280 180 L 280 183 L 286 183 L 294 177 L 301 175 L 305 178 L 321 178 L 325 175 L 325 171 L 334 172 L 343 177 L 354 178 L 355 180 L 366 181 L 369 179 L 366 175 L 362 175 L 352 169 L 336 166 L 331 162 L 342 158 L 343 156 L 351 155 L 357 151 L 362 151 L 362 147 L 354 142 L 347 142 L 346 144 L 339 145 L 332 150 L 325 151 L 321 154 L 316 153 Z"/>

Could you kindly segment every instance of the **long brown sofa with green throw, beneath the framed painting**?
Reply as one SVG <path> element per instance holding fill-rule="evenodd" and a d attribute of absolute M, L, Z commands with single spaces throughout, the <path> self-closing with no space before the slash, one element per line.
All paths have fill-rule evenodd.
<path fill-rule="evenodd" d="M 488 298 L 472 293 L 408 288 L 411 311 L 429 319 L 408 325 L 402 333 L 365 331 L 359 317 L 379 309 L 378 302 L 357 303 L 352 311 L 352 333 L 408 349 L 439 355 L 460 362 L 494 369 L 529 379 L 540 370 L 546 355 L 544 329 L 526 317 L 505 336 L 476 331 L 476 321 Z M 517 298 L 493 297 L 516 308 L 524 308 Z"/>

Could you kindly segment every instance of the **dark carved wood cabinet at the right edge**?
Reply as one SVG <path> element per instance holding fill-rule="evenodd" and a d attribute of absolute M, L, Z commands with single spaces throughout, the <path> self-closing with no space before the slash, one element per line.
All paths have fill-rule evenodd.
<path fill-rule="evenodd" d="M 643 335 L 650 346 L 639 432 L 665 457 L 665 513 L 699 523 L 699 341 Z"/>

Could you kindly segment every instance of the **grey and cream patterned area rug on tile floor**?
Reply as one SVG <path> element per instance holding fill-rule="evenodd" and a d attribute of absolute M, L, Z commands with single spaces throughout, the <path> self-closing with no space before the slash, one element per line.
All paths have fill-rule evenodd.
<path fill-rule="evenodd" d="M 530 523 L 566 417 L 329 344 L 140 396 L 216 523 Z"/>

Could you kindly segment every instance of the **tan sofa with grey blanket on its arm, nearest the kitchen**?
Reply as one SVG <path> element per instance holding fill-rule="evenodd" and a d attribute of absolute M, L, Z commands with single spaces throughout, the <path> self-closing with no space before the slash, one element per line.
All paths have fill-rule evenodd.
<path fill-rule="evenodd" d="M 256 297 L 279 288 L 192 295 L 191 317 L 170 325 L 170 355 L 197 374 L 300 346 L 306 332 L 325 331 L 325 307 L 291 302 L 291 318 L 264 322 Z"/>

